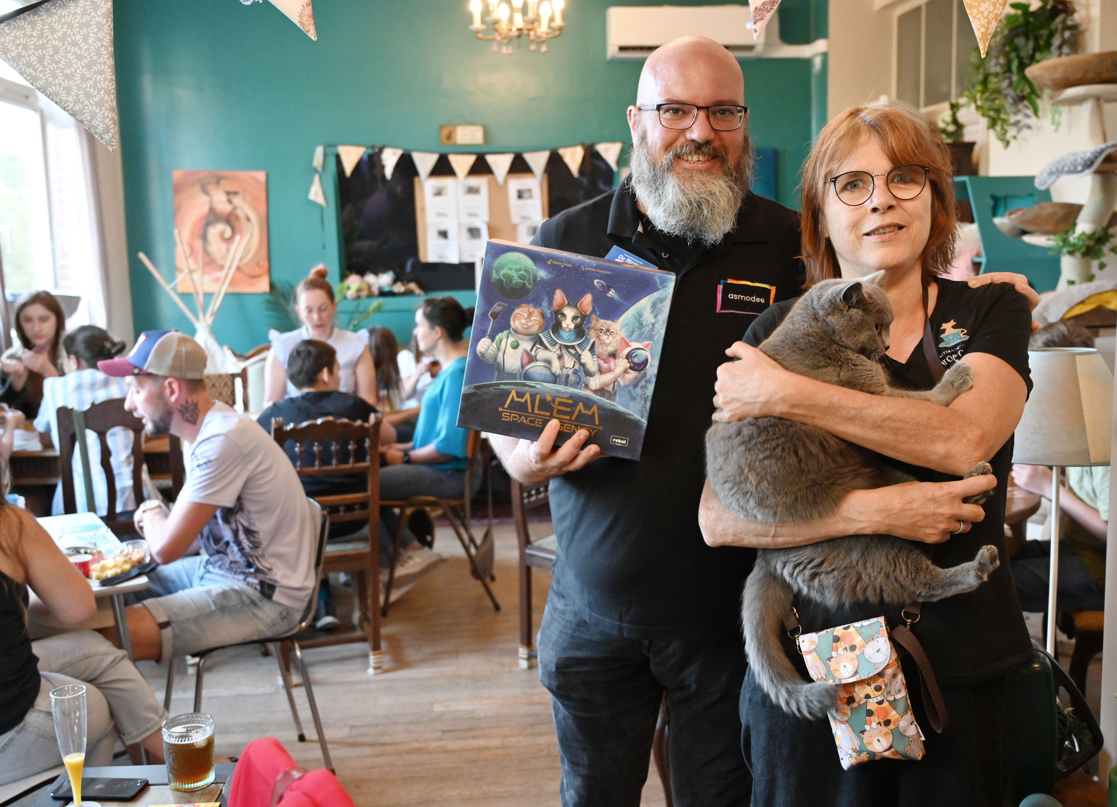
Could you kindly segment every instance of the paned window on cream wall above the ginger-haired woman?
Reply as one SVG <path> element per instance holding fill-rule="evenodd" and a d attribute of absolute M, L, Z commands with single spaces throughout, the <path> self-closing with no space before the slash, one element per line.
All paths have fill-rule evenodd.
<path fill-rule="evenodd" d="M 916 108 L 962 96 L 977 47 L 963 0 L 917 0 L 896 12 L 894 95 Z"/>

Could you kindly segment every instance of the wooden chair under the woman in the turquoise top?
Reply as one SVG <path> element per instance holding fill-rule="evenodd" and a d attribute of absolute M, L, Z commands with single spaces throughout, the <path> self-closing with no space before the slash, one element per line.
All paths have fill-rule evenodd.
<path fill-rule="evenodd" d="M 500 610 L 500 604 L 493 594 L 490 580 L 496 580 L 493 573 L 493 458 L 490 449 L 481 440 L 480 431 L 469 430 L 469 442 L 466 444 L 466 456 L 469 465 L 466 467 L 465 488 L 461 499 L 439 499 L 437 496 L 412 496 L 401 502 L 381 502 L 385 507 L 399 507 L 400 523 L 395 530 L 395 545 L 392 549 L 392 566 L 388 572 L 388 585 L 384 587 L 383 604 L 381 615 L 388 616 L 388 607 L 391 604 L 392 583 L 395 582 L 395 563 L 400 557 L 400 542 L 403 538 L 403 528 L 407 526 L 408 518 L 419 509 L 440 510 L 446 514 L 446 520 L 450 522 L 454 533 L 461 543 L 461 549 L 469 559 L 469 569 L 472 576 L 485 587 L 485 594 L 493 602 L 494 610 Z M 477 458 L 483 457 L 484 473 L 488 487 L 488 526 L 481 540 L 478 541 L 470 526 L 472 522 L 472 492 L 474 474 L 477 473 Z M 431 535 L 433 544 L 435 537 Z"/>

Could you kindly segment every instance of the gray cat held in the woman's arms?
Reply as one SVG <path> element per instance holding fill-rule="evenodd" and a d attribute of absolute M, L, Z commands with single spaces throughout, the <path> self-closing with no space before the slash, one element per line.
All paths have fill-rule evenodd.
<path fill-rule="evenodd" d="M 970 389 L 972 371 L 955 363 L 929 391 L 892 387 L 879 364 L 892 310 L 880 273 L 822 281 L 806 292 L 760 349 L 782 367 L 862 392 L 941 406 Z M 706 435 L 709 481 L 722 503 L 760 522 L 814 521 L 847 493 L 910 482 L 873 452 L 783 418 L 715 424 Z M 991 473 L 980 463 L 967 476 Z M 989 494 L 973 497 L 981 502 Z M 971 500 L 967 500 L 971 501 Z M 792 597 L 831 608 L 853 602 L 934 601 L 980 586 L 999 564 L 995 547 L 968 563 L 941 569 L 915 544 L 892 535 L 849 535 L 792 549 L 761 550 L 742 595 L 745 648 L 761 687 L 785 711 L 821 718 L 837 703 L 831 684 L 804 684 L 780 643 Z M 825 661 L 825 659 L 823 659 Z"/>

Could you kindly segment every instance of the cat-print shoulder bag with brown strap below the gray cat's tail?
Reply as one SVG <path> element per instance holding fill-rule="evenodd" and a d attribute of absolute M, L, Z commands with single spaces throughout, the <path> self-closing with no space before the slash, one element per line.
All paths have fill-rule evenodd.
<path fill-rule="evenodd" d="M 911 711 L 899 664 L 903 655 L 910 654 L 919 665 L 932 728 L 942 732 L 947 715 L 930 663 L 910 629 L 900 625 L 889 632 L 880 616 L 804 634 L 792 610 L 784 627 L 795 639 L 808 673 L 814 681 L 838 687 L 838 705 L 827 714 L 842 768 L 876 759 L 923 759 L 924 735 Z M 910 625 L 919 618 L 918 606 L 906 607 L 904 614 Z M 900 644 L 900 652 L 892 639 Z"/>

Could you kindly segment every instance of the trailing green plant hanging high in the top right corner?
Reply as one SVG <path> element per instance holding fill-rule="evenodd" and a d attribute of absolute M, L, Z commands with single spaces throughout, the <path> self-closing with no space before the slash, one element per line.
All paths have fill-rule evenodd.
<path fill-rule="evenodd" d="M 1024 69 L 1075 53 L 1079 32 L 1071 0 L 1039 0 L 1034 8 L 1015 2 L 1010 8 L 1012 11 L 993 32 L 985 58 L 974 48 L 966 91 L 966 98 L 1005 148 L 1030 129 L 1030 118 L 1040 116 L 1043 91 L 1024 75 Z M 1059 107 L 1052 106 L 1056 126 L 1058 115 Z"/>

